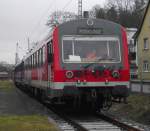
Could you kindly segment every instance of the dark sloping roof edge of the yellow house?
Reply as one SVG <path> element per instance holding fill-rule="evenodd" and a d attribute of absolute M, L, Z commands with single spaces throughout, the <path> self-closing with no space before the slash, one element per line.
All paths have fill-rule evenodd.
<path fill-rule="evenodd" d="M 137 37 L 139 36 L 139 34 L 140 34 L 141 30 L 142 30 L 142 26 L 143 26 L 143 23 L 144 23 L 146 14 L 147 14 L 147 12 L 148 12 L 149 5 L 150 5 L 150 0 L 149 0 L 148 3 L 147 3 L 146 10 L 145 10 L 145 13 L 144 13 L 142 22 L 141 22 L 141 24 L 140 24 L 140 27 L 139 27 L 138 31 L 136 32 L 136 34 L 133 36 L 133 37 L 136 38 L 136 39 L 137 39 Z"/>

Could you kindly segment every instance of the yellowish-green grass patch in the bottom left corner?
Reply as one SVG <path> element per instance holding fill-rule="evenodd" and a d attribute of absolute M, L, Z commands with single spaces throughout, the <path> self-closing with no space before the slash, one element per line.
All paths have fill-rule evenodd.
<path fill-rule="evenodd" d="M 1 116 L 0 131 L 57 131 L 46 116 Z"/>

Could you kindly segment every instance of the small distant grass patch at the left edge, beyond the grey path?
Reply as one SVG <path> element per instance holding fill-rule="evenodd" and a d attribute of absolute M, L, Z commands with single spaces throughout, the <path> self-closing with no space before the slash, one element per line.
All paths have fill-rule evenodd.
<path fill-rule="evenodd" d="M 0 90 L 10 91 L 14 89 L 14 83 L 11 80 L 0 80 Z"/>

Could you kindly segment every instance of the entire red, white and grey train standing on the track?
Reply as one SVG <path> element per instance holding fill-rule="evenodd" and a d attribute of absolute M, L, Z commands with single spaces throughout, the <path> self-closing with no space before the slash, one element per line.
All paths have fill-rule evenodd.
<path fill-rule="evenodd" d="M 126 98 L 129 93 L 126 31 L 110 21 L 80 19 L 63 23 L 21 64 L 15 69 L 16 84 L 50 100 L 104 108 L 111 105 L 112 98 Z"/>

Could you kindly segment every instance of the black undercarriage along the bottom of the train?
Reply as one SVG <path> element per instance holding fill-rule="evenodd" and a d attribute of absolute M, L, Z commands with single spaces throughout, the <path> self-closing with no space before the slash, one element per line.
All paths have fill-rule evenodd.
<path fill-rule="evenodd" d="M 126 102 L 126 97 L 128 96 L 127 88 L 120 87 L 119 90 L 116 90 L 114 87 L 103 87 L 78 88 L 78 90 L 71 91 L 65 88 L 62 96 L 50 98 L 48 97 L 47 90 L 20 85 L 18 83 L 16 83 L 16 86 L 28 92 L 38 100 L 46 100 L 52 104 L 65 104 L 67 107 L 76 110 L 88 109 L 92 111 L 107 111 L 111 108 L 113 102 L 120 102 L 121 99 Z M 121 92 L 122 94 L 116 94 L 117 92 Z"/>

